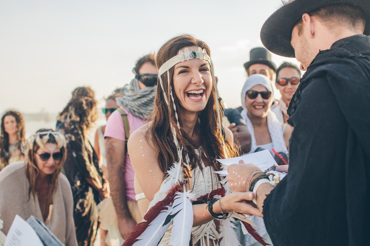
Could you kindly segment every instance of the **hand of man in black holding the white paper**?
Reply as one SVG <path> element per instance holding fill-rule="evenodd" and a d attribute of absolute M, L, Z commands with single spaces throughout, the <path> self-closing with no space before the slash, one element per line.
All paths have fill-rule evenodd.
<path fill-rule="evenodd" d="M 246 164 L 244 160 L 240 160 L 239 164 L 232 164 L 228 167 L 228 176 L 226 180 L 229 182 L 229 188 L 233 192 L 246 192 L 246 181 L 249 174 L 255 170 L 261 170 L 255 164 Z"/>

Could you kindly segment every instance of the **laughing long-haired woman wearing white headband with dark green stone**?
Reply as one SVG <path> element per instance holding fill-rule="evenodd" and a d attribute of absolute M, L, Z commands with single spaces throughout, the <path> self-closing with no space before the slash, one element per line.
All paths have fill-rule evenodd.
<path fill-rule="evenodd" d="M 177 193 L 174 201 L 163 202 L 164 205 L 172 202 L 174 205 L 168 210 L 162 210 L 148 226 L 156 226 L 161 216 L 172 211 L 171 216 L 166 217 L 170 223 L 158 226 L 159 230 L 165 228 L 166 231 L 156 233 L 157 238 L 151 239 L 151 232 L 147 229 L 138 234 L 141 234 L 138 245 L 145 245 L 146 240 L 156 240 L 152 243 L 157 245 L 159 242 L 161 246 L 177 245 L 174 241 L 181 241 L 185 245 L 189 245 L 189 241 L 192 245 L 215 245 L 222 238 L 217 231 L 219 222 L 215 216 L 222 217 L 222 213 L 226 214 L 227 211 L 245 209 L 246 203 L 241 201 L 245 200 L 247 193 L 227 194 L 221 200 L 212 200 L 213 203 L 209 204 L 191 203 L 195 198 L 222 187 L 222 178 L 213 172 L 221 168 L 216 158 L 236 156 L 231 131 L 219 127 L 223 111 L 213 84 L 209 54 L 209 48 L 204 42 L 189 35 L 170 39 L 158 51 L 156 65 L 159 68 L 160 83 L 157 86 L 152 122 L 132 133 L 128 141 L 128 152 L 135 171 L 135 191 L 142 214 L 147 212 L 146 208 L 143 210 L 142 204 L 150 202 L 149 208 L 153 208 L 161 205 L 157 203 L 161 199 L 166 201 L 164 197 L 171 194 L 172 185 L 182 193 Z M 182 169 L 177 163 L 182 164 L 186 175 L 178 171 Z M 186 199 L 181 200 L 180 195 Z M 150 219 L 149 214 L 152 213 L 147 212 L 144 217 L 146 221 Z M 182 219 L 185 225 L 179 222 Z M 135 227 L 130 234 L 134 241 L 139 227 Z M 161 235 L 164 235 L 163 238 Z M 130 236 L 127 241 L 131 240 Z M 124 245 L 131 243 L 125 242 Z"/>

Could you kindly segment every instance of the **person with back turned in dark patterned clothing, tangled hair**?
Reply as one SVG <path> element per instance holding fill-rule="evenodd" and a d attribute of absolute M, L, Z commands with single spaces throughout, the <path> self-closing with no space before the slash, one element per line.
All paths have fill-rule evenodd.
<path fill-rule="evenodd" d="M 90 87 L 78 87 L 58 117 L 57 129 L 67 139 L 63 173 L 72 187 L 78 245 L 91 246 L 98 228 L 96 205 L 109 196 L 98 157 L 87 132 L 98 120 L 97 101 Z"/>

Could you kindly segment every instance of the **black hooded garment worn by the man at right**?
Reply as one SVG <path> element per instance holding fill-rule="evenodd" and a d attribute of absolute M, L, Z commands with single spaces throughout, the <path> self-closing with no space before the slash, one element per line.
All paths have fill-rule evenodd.
<path fill-rule="evenodd" d="M 288 114 L 289 174 L 263 206 L 273 245 L 369 245 L 370 37 L 320 51 Z"/>

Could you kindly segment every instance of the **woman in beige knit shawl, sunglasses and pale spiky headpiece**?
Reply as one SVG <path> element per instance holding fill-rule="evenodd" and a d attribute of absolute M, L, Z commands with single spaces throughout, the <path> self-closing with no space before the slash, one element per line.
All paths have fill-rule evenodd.
<path fill-rule="evenodd" d="M 25 145 L 26 161 L 0 171 L 1 231 L 8 233 L 17 214 L 25 220 L 33 215 L 66 246 L 77 246 L 71 186 L 61 173 L 67 156 L 64 136 L 41 129 Z"/>

